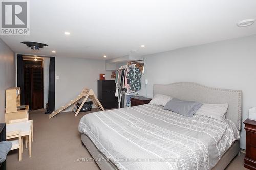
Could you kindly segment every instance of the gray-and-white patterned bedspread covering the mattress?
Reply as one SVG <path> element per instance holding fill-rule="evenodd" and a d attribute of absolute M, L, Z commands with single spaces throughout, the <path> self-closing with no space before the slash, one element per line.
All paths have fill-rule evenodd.
<path fill-rule="evenodd" d="M 149 104 L 87 114 L 78 130 L 118 169 L 211 169 L 239 139 L 230 120 Z"/>

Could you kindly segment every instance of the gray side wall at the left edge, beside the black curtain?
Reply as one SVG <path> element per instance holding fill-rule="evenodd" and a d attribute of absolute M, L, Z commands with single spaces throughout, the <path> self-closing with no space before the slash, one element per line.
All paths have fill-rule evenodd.
<path fill-rule="evenodd" d="M 5 90 L 15 87 L 13 51 L 0 39 L 0 122 L 5 122 Z"/>

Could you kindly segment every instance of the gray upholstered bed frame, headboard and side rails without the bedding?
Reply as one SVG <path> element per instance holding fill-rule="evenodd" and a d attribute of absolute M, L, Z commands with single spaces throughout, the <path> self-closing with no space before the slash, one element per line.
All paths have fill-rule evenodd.
<path fill-rule="evenodd" d="M 226 118 L 232 120 L 238 130 L 241 130 L 242 91 L 207 87 L 193 82 L 177 82 L 168 85 L 154 85 L 155 94 L 165 94 L 182 100 L 192 100 L 202 103 L 228 103 Z M 106 157 L 96 148 L 93 142 L 85 134 L 81 133 L 84 144 L 92 157 L 96 160 L 104 160 Z M 225 152 L 219 162 L 212 168 L 214 170 L 225 169 L 232 159 L 239 154 L 240 141 L 237 140 Z M 118 169 L 111 161 L 96 161 L 100 169 Z"/>

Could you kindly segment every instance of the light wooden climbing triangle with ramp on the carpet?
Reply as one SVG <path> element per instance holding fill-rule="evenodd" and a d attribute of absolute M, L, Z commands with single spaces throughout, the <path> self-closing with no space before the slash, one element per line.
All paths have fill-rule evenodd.
<path fill-rule="evenodd" d="M 81 94 L 79 94 L 77 96 L 77 98 L 73 99 L 70 101 L 70 103 L 63 105 L 62 107 L 58 108 L 56 111 L 52 112 L 51 114 L 49 114 L 49 119 L 52 118 L 53 116 L 57 115 L 58 113 L 62 112 L 63 110 L 67 109 L 68 107 L 70 107 L 72 104 L 73 108 L 72 111 L 74 111 L 74 107 L 76 107 L 76 104 L 82 99 L 82 104 L 80 105 L 79 109 L 75 112 L 75 116 L 78 115 L 78 113 L 80 112 L 80 110 L 82 109 L 84 103 L 86 103 L 86 101 L 88 100 L 88 98 L 91 99 L 91 101 L 93 102 L 93 105 L 96 106 L 98 109 L 101 109 L 102 111 L 105 111 L 105 109 L 103 108 L 103 106 L 101 105 L 101 103 L 99 102 L 98 98 L 95 96 L 95 93 L 92 89 L 88 89 L 88 88 L 84 88 L 81 92 Z"/>

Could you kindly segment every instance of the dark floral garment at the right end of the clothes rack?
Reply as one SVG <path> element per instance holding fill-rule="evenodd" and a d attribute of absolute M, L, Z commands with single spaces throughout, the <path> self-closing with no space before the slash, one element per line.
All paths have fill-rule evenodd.
<path fill-rule="evenodd" d="M 141 72 L 139 68 L 132 68 L 129 70 L 126 78 L 130 80 L 129 85 L 132 91 L 134 91 L 134 89 L 136 91 L 139 91 L 141 89 L 140 77 L 141 77 Z"/>

